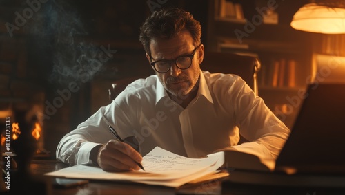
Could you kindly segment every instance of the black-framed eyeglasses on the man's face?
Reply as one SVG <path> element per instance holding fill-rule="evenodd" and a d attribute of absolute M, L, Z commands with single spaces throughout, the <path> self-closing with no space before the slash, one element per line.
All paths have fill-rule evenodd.
<path fill-rule="evenodd" d="M 199 44 L 199 46 L 201 46 L 201 44 Z M 172 62 L 174 62 L 176 64 L 177 68 L 179 68 L 181 70 L 186 70 L 192 65 L 193 57 L 194 57 L 195 53 L 197 52 L 197 48 L 199 48 L 199 46 L 195 47 L 192 54 L 180 55 L 176 59 L 170 59 L 170 60 L 160 59 L 160 60 L 157 60 L 155 62 L 152 62 L 153 58 L 150 56 L 150 58 L 151 58 L 150 64 L 151 64 L 151 66 L 153 66 L 153 68 L 155 68 L 155 71 L 157 71 L 158 73 L 167 73 L 171 68 Z"/>

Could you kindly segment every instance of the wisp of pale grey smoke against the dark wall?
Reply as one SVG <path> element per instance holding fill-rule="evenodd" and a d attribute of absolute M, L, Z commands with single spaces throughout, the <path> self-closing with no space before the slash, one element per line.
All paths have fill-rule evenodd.
<path fill-rule="evenodd" d="M 103 66 L 96 58 L 99 48 L 82 40 L 88 32 L 77 10 L 71 9 L 66 2 L 48 1 L 29 27 L 40 37 L 50 37 L 52 73 L 49 81 L 60 85 L 88 82 Z"/>

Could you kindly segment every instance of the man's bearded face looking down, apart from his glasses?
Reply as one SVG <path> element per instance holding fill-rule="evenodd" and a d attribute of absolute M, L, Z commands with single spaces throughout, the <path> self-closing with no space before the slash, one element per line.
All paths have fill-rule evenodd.
<path fill-rule="evenodd" d="M 153 39 L 150 43 L 152 62 L 161 59 L 176 59 L 181 55 L 191 55 L 196 47 L 188 30 L 179 32 L 171 39 Z M 150 56 L 146 55 L 146 57 L 151 62 Z M 172 62 L 167 73 L 158 73 L 156 71 L 156 74 L 168 93 L 176 97 L 186 96 L 192 91 L 199 79 L 199 64 L 203 58 L 204 46 L 201 45 L 195 52 L 190 68 L 181 70 Z"/>

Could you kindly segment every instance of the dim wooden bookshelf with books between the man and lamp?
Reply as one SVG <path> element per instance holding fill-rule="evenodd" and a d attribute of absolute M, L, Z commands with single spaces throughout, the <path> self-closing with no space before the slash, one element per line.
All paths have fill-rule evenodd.
<path fill-rule="evenodd" d="M 311 35 L 290 27 L 303 3 L 214 0 L 208 6 L 206 49 L 258 57 L 259 95 L 289 128 L 299 111 L 293 100 L 312 73 Z"/>

